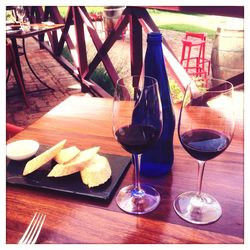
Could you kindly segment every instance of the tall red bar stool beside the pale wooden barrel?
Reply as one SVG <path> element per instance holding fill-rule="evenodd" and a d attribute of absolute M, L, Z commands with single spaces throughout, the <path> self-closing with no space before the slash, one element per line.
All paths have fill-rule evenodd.
<path fill-rule="evenodd" d="M 186 32 L 185 38 L 182 39 L 180 63 L 189 75 L 203 75 L 206 78 L 210 74 L 210 60 L 205 58 L 206 37 L 206 33 Z M 194 55 L 195 52 L 192 53 L 192 48 L 197 48 L 198 53 Z"/>

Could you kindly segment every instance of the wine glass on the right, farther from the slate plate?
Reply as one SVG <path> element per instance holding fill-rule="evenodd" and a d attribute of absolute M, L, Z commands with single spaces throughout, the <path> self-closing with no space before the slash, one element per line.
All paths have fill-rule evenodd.
<path fill-rule="evenodd" d="M 215 222 L 222 214 L 219 202 L 201 192 L 201 187 L 206 161 L 224 152 L 232 140 L 233 91 L 230 82 L 211 78 L 199 86 L 189 84 L 183 98 L 178 135 L 184 149 L 198 161 L 198 190 L 180 194 L 173 205 L 182 219 L 194 224 Z"/>

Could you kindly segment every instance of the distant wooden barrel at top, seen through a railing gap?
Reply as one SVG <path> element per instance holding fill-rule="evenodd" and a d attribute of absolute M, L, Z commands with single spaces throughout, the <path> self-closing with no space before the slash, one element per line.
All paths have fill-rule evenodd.
<path fill-rule="evenodd" d="M 124 6 L 106 6 L 103 10 L 103 22 L 105 29 L 105 37 L 114 30 L 114 27 L 124 11 Z"/>

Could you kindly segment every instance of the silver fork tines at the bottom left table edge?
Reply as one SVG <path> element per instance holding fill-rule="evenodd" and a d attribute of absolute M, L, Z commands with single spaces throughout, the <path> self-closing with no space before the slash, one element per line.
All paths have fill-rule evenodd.
<path fill-rule="evenodd" d="M 18 244 L 35 244 L 46 215 L 36 212 Z"/>

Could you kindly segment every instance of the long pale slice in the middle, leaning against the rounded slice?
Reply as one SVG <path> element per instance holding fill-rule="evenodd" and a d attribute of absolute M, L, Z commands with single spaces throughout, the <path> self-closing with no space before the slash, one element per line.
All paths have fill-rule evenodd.
<path fill-rule="evenodd" d="M 88 161 L 90 161 L 95 156 L 99 149 L 100 147 L 93 147 L 81 151 L 75 158 L 73 158 L 66 164 L 55 165 L 47 176 L 61 177 L 81 171 L 86 166 Z"/>

